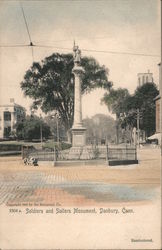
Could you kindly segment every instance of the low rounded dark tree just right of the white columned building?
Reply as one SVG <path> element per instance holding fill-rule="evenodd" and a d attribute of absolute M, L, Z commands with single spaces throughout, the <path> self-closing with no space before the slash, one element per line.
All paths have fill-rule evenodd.
<path fill-rule="evenodd" d="M 50 135 L 50 128 L 37 116 L 27 116 L 24 121 L 16 124 L 16 133 L 19 139 L 40 139 L 41 129 L 43 138 L 47 138 Z"/>

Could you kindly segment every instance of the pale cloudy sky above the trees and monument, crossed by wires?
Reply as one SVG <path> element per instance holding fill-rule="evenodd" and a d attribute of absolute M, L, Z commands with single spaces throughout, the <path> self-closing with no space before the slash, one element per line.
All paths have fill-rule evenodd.
<path fill-rule="evenodd" d="M 72 51 L 73 40 L 83 56 L 93 56 L 109 69 L 114 88 L 137 87 L 137 74 L 153 73 L 158 84 L 160 62 L 160 0 L 21 1 L 34 44 L 59 48 L 34 48 L 34 60 L 55 52 Z M 19 1 L 0 1 L 0 45 L 29 44 Z M 159 55 L 134 56 L 88 52 L 86 50 Z M 29 109 L 31 100 L 23 97 L 20 82 L 32 65 L 30 47 L 0 47 L 0 103 L 10 98 Z M 104 90 L 82 98 L 83 118 L 96 113 L 109 114 L 100 105 Z"/>

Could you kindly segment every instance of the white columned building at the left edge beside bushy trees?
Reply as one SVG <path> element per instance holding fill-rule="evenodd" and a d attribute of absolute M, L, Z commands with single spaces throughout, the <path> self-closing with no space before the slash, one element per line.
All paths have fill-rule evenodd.
<path fill-rule="evenodd" d="M 0 139 L 9 138 L 15 131 L 15 124 L 25 118 L 26 110 L 10 99 L 10 104 L 0 105 Z"/>

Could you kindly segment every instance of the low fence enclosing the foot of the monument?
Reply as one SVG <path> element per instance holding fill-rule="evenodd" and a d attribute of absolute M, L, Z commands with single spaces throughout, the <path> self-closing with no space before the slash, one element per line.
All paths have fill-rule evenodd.
<path fill-rule="evenodd" d="M 67 160 L 137 160 L 137 149 L 132 146 L 97 146 L 70 148 L 66 150 L 41 150 L 32 147 L 22 149 L 22 158 L 34 157 L 38 161 L 67 161 Z"/>

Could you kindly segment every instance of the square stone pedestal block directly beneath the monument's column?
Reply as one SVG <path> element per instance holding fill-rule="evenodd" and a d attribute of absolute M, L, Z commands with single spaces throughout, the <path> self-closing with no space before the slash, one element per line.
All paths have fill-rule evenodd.
<path fill-rule="evenodd" d="M 83 147 L 86 145 L 86 128 L 78 127 L 72 128 L 72 146 Z"/>

